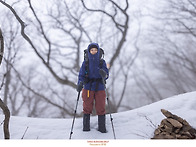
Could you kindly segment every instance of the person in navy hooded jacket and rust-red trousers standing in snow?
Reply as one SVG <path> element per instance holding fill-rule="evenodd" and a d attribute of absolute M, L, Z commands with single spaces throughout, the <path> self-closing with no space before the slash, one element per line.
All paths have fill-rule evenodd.
<path fill-rule="evenodd" d="M 98 131 L 106 133 L 105 127 L 105 87 L 102 78 L 108 79 L 106 62 L 101 58 L 103 50 L 97 43 L 89 44 L 87 59 L 83 61 L 78 76 L 77 91 L 82 90 L 83 99 L 83 131 L 90 131 L 90 114 L 95 109 L 98 115 Z M 84 88 L 83 88 L 84 85 Z"/>

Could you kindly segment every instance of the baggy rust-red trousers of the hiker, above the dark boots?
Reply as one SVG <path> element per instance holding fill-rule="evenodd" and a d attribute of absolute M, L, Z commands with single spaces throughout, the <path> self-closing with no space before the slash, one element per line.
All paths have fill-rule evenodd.
<path fill-rule="evenodd" d="M 100 91 L 90 91 L 82 89 L 82 99 L 83 99 L 83 113 L 91 114 L 93 111 L 93 105 L 95 101 L 95 109 L 97 115 L 105 114 L 105 90 Z"/>

